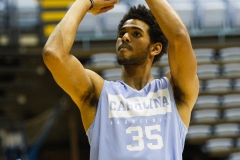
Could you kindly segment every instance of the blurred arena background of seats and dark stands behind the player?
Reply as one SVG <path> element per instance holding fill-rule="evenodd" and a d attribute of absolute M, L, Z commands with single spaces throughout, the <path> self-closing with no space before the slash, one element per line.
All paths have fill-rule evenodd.
<path fill-rule="evenodd" d="M 240 160 L 240 1 L 168 0 L 189 30 L 200 93 L 184 160 Z M 78 108 L 45 67 L 41 51 L 73 0 L 0 0 L 0 159 L 87 160 L 89 144 Z M 105 79 L 116 80 L 117 25 L 122 0 L 99 16 L 86 14 L 71 54 Z M 162 77 L 165 55 L 152 73 Z M 77 74 L 77 73 L 73 73 Z"/>

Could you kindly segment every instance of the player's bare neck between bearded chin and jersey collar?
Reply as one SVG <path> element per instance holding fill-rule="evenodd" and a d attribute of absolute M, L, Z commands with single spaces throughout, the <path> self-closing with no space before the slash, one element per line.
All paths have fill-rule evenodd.
<path fill-rule="evenodd" d="M 151 66 L 123 66 L 122 81 L 136 90 L 141 90 L 154 78 L 151 74 Z"/>

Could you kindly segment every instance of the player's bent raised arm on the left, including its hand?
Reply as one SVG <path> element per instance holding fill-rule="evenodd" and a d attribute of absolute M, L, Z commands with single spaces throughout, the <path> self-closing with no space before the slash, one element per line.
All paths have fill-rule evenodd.
<path fill-rule="evenodd" d="M 89 107 L 93 108 L 92 105 L 96 105 L 92 102 L 98 99 L 103 79 L 96 73 L 86 70 L 80 61 L 69 52 L 74 43 L 78 25 L 85 14 L 88 11 L 95 15 L 108 11 L 116 2 L 117 0 L 95 0 L 93 8 L 89 11 L 90 0 L 76 0 L 43 48 L 43 59 L 46 66 L 57 84 L 71 96 L 81 113 L 84 113 L 84 115 L 82 114 L 83 123 Z M 91 120 L 84 124 L 85 129 L 90 123 Z"/>

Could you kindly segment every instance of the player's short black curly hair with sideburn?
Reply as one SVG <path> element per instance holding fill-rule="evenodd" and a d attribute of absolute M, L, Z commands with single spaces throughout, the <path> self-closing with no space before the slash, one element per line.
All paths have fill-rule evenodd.
<path fill-rule="evenodd" d="M 149 26 L 148 34 L 150 36 L 150 43 L 160 42 L 162 50 L 160 54 L 154 57 L 153 63 L 159 61 L 163 54 L 167 53 L 168 40 L 163 34 L 152 12 L 144 5 L 132 6 L 128 13 L 124 15 L 118 25 L 118 31 L 123 27 L 124 23 L 129 19 L 138 19 L 145 22 Z"/>

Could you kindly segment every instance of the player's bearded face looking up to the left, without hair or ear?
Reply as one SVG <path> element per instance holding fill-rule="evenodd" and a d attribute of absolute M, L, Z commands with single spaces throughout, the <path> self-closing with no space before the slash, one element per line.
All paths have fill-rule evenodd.
<path fill-rule="evenodd" d="M 140 65 L 145 62 L 149 47 L 149 26 L 140 20 L 127 20 L 118 32 L 116 43 L 117 59 L 120 65 Z"/>

